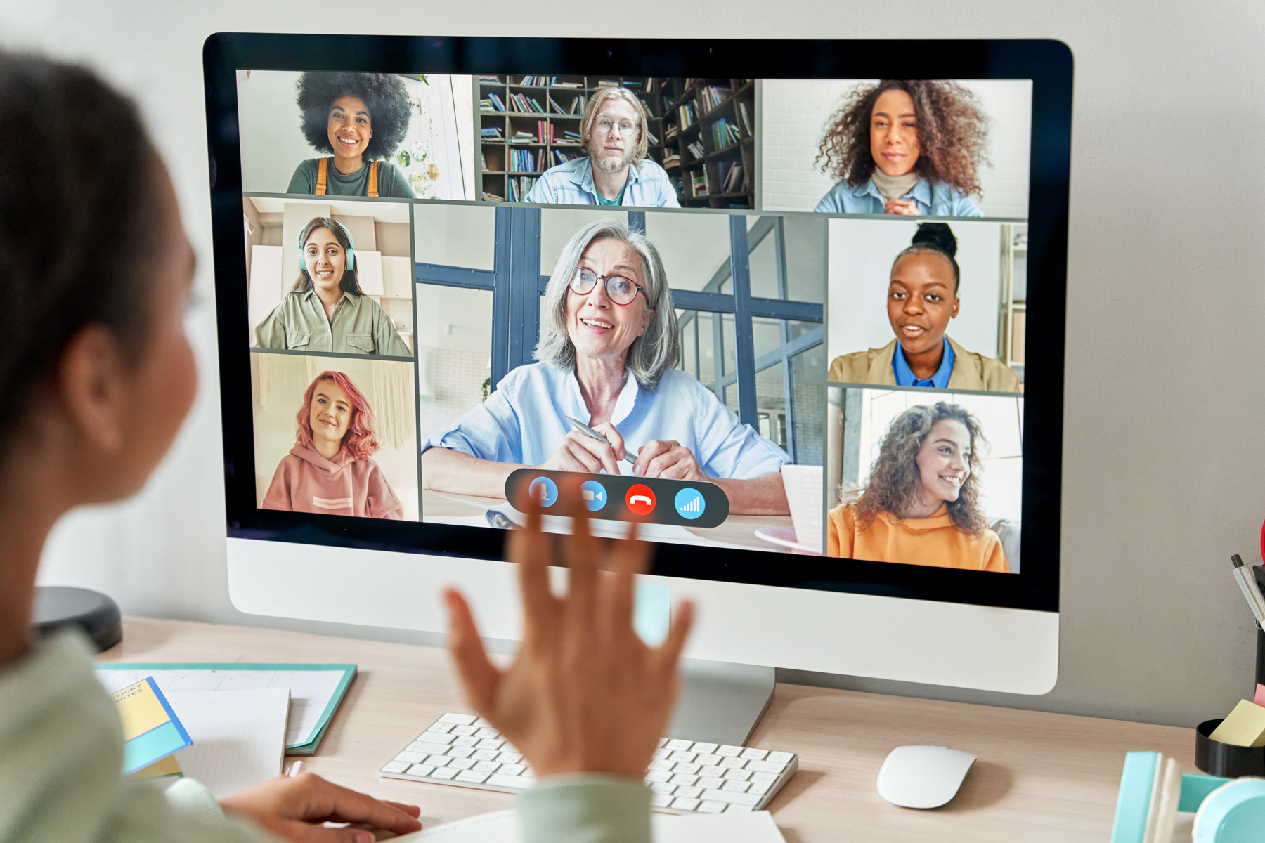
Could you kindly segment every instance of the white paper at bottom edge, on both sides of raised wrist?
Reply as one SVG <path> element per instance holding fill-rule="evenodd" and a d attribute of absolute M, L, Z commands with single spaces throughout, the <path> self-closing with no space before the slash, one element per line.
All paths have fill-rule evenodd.
<path fill-rule="evenodd" d="M 650 818 L 655 843 L 786 843 L 768 811 Z M 516 811 L 479 814 L 396 838 L 398 843 L 519 843 Z"/>

